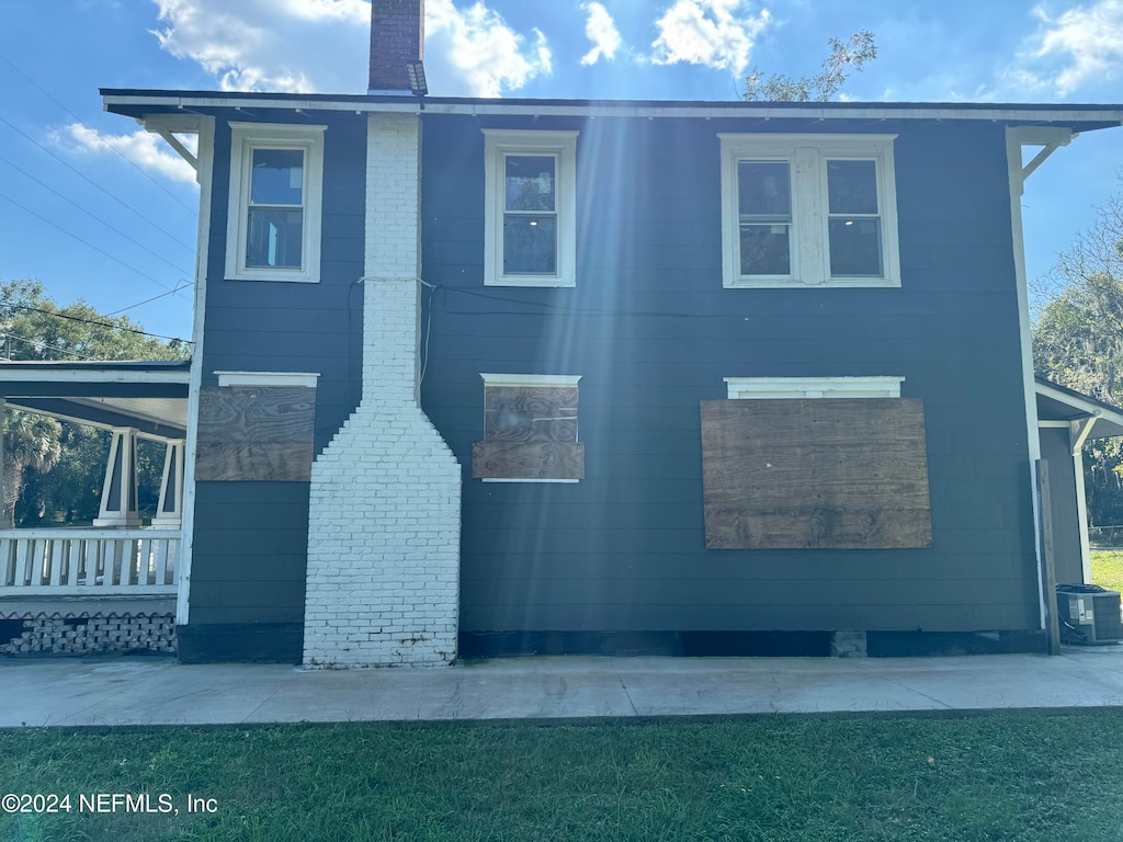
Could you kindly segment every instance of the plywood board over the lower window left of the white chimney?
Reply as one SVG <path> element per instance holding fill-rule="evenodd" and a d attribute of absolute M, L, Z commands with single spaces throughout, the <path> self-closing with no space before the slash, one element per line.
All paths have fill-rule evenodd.
<path fill-rule="evenodd" d="M 316 390 L 208 386 L 199 393 L 195 479 L 309 482 Z"/>

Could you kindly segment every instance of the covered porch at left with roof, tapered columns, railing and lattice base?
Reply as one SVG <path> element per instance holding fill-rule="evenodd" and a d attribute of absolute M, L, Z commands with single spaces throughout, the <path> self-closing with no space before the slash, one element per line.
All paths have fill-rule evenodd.
<path fill-rule="evenodd" d="M 92 525 L 0 529 L 0 655 L 175 651 L 189 365 L 0 363 L 0 409 L 111 433 Z M 147 524 L 139 439 L 165 454 Z"/>

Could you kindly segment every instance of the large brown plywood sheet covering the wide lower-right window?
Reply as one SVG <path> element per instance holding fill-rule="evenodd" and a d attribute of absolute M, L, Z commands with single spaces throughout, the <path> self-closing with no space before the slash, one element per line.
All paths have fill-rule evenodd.
<path fill-rule="evenodd" d="M 916 399 L 702 402 L 709 549 L 930 547 Z"/>

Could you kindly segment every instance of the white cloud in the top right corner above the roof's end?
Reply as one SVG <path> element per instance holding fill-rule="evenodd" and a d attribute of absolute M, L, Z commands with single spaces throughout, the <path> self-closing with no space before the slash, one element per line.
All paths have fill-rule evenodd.
<path fill-rule="evenodd" d="M 1012 81 L 1066 97 L 1123 70 L 1123 0 L 1097 0 L 1057 17 L 1038 6 L 1033 16 L 1041 26 L 1007 74 Z"/>

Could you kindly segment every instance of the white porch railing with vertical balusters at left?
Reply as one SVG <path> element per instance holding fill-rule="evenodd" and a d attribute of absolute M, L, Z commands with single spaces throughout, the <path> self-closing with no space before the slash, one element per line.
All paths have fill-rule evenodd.
<path fill-rule="evenodd" d="M 0 530 L 0 597 L 174 596 L 179 530 Z"/>

